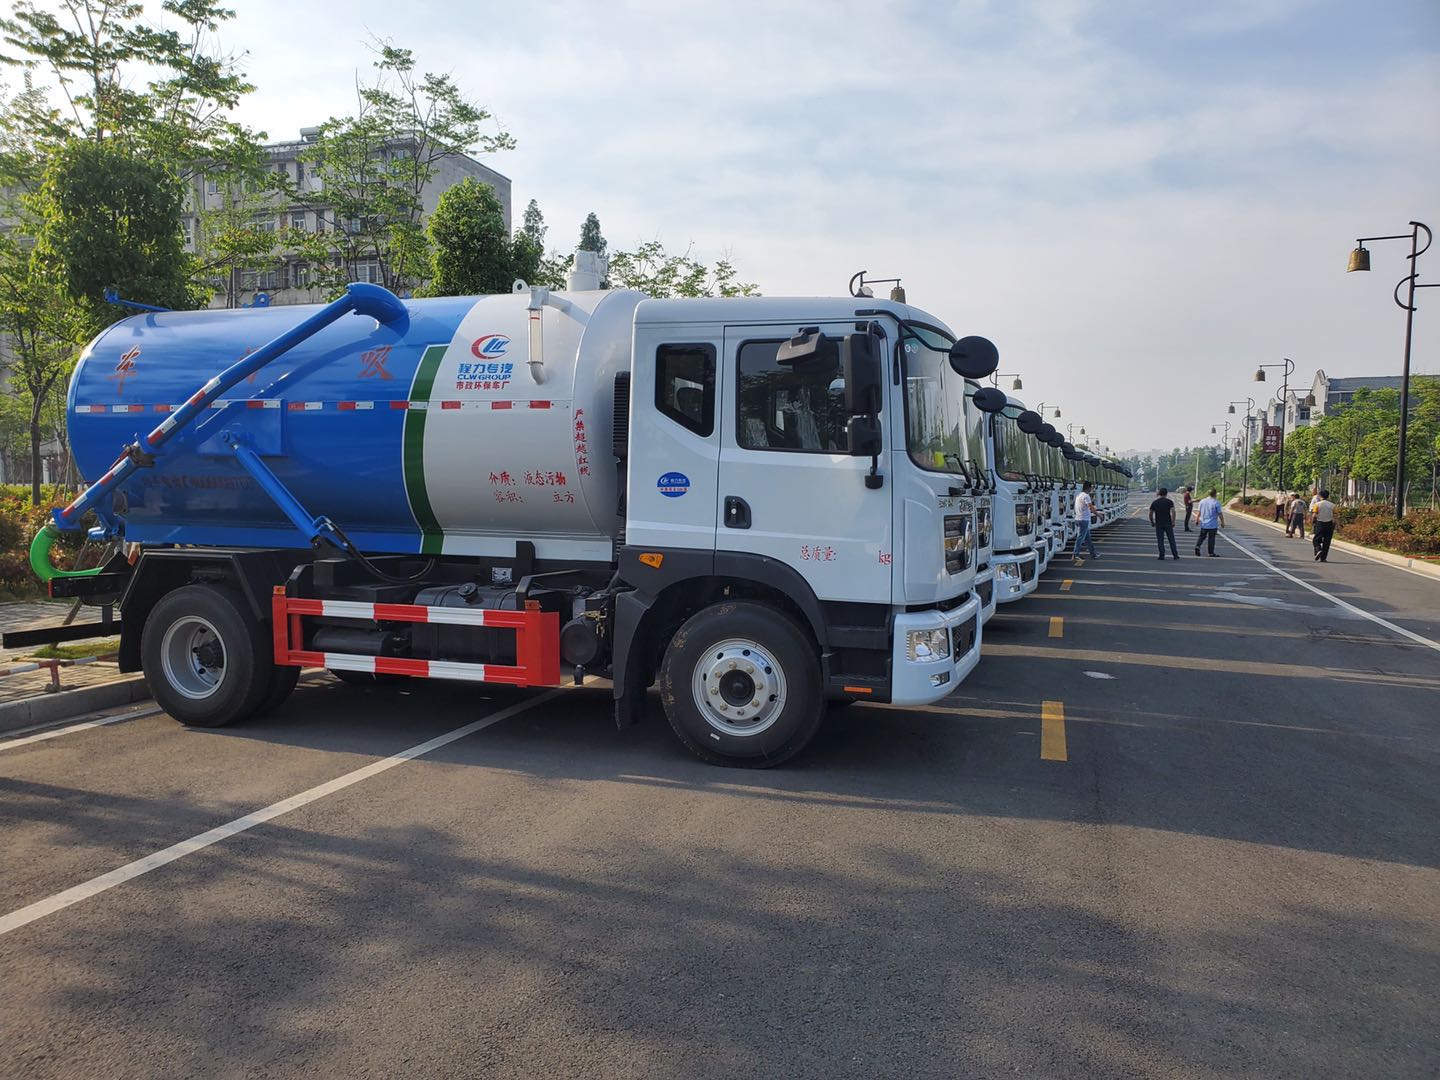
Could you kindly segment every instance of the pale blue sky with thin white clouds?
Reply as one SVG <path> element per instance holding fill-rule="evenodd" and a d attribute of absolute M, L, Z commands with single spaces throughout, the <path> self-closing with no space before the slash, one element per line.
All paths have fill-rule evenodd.
<path fill-rule="evenodd" d="M 593 210 L 612 248 L 729 253 L 770 295 L 900 276 L 1116 452 L 1215 442 L 1277 390 L 1259 363 L 1398 374 L 1408 246 L 1346 255 L 1440 229 L 1436 0 L 232 6 L 238 118 L 271 138 L 351 111 L 389 39 L 516 137 L 485 163 L 550 246 Z"/>

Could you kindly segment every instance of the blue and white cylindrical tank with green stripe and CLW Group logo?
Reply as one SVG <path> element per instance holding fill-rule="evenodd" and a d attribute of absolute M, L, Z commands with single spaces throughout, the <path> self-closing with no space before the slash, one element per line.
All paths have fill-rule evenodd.
<path fill-rule="evenodd" d="M 144 544 L 305 546 L 235 459 L 236 433 L 312 516 L 367 552 L 609 559 L 621 528 L 611 431 L 639 292 L 406 301 L 347 315 L 233 387 L 117 492 Z M 531 310 L 534 308 L 534 310 Z M 88 481 L 207 379 L 311 305 L 135 315 L 69 387 Z"/>

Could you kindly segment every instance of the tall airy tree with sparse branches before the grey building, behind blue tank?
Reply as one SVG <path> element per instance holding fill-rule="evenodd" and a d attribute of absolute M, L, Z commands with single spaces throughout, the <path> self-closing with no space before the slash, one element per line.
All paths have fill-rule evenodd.
<path fill-rule="evenodd" d="M 420 284 L 431 268 L 423 228 L 425 189 L 446 157 L 511 150 L 516 140 L 468 101 L 449 75 L 418 73 L 409 49 L 379 42 L 376 81 L 356 89 L 356 112 L 325 121 L 304 160 L 321 190 L 289 187 L 292 202 L 323 215 L 323 243 L 340 256 L 325 281 L 353 281 L 357 264 L 374 261 L 396 291 Z M 317 261 L 317 266 L 328 265 Z"/>

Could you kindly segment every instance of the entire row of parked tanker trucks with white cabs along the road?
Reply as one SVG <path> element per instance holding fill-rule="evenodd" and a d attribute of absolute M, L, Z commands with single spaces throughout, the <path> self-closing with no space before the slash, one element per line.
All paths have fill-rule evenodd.
<path fill-rule="evenodd" d="M 301 668 L 556 685 L 775 765 L 847 701 L 926 704 L 1128 474 L 986 386 L 998 353 L 900 300 L 572 289 L 143 311 L 85 350 L 95 482 L 36 537 L 118 603 L 120 662 L 187 724 Z M 85 531 L 105 557 L 56 570 Z M 71 635 L 75 631 L 69 631 Z M 883 713 L 876 723 L 884 723 Z"/>

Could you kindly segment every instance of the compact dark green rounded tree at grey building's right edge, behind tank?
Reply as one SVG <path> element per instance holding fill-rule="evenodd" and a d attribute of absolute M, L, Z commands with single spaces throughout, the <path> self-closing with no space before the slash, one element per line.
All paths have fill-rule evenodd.
<path fill-rule="evenodd" d="M 465 297 L 510 292 L 516 278 L 533 281 L 539 251 L 524 232 L 505 232 L 495 189 L 474 177 L 441 196 L 429 220 L 433 271 L 426 295 Z"/>

